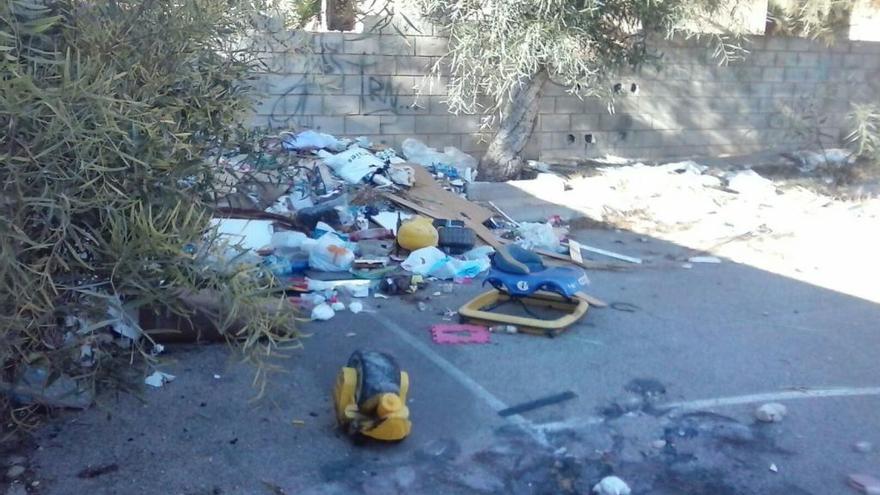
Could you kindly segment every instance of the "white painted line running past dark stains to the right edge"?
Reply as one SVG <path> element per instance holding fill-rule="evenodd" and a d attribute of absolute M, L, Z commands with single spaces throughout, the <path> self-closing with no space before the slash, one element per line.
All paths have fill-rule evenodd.
<path fill-rule="evenodd" d="M 790 390 L 785 392 L 767 392 L 763 394 L 736 395 L 732 397 L 718 397 L 715 399 L 700 399 L 680 402 L 667 402 L 657 404 L 656 409 L 679 409 L 683 411 L 696 411 L 713 409 L 718 407 L 740 406 L 745 404 L 758 404 L 762 402 L 782 402 L 788 400 L 823 399 L 834 397 L 866 397 L 880 395 L 880 387 L 838 387 L 821 389 Z M 601 416 L 585 416 L 572 418 L 565 421 L 554 421 L 534 425 L 543 433 L 574 430 L 594 426 L 605 421 Z"/>

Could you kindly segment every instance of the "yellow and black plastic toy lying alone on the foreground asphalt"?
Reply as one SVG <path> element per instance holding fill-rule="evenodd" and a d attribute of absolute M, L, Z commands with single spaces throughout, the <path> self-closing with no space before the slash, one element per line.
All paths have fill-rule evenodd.
<path fill-rule="evenodd" d="M 339 371 L 333 400 L 339 426 L 352 436 L 397 441 L 409 435 L 412 423 L 406 395 L 409 375 L 391 356 L 355 351 Z"/>

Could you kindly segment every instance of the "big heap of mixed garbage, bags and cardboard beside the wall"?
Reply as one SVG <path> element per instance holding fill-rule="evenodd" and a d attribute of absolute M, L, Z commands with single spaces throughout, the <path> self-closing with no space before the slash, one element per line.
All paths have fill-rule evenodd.
<path fill-rule="evenodd" d="M 211 158 L 218 173 L 260 180 L 230 181 L 214 225 L 312 320 L 358 313 L 360 298 L 413 293 L 432 280 L 469 283 L 506 242 L 565 257 L 558 219 L 517 223 L 465 199 L 477 160 L 453 147 L 407 139 L 398 154 L 306 130 L 267 137 L 259 153 L 239 151 Z"/>

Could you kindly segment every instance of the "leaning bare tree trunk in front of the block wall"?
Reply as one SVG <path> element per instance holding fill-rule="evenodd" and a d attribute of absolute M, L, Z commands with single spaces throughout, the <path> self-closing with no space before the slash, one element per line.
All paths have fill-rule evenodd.
<path fill-rule="evenodd" d="M 548 78 L 547 71 L 538 72 L 505 104 L 498 132 L 480 160 L 480 180 L 510 180 L 522 170 L 520 153 L 535 127 L 541 90 Z"/>

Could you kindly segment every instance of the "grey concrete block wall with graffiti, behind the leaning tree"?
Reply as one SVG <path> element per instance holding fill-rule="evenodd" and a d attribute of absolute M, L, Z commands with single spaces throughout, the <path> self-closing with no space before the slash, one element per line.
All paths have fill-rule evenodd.
<path fill-rule="evenodd" d="M 446 47 L 430 26 L 405 37 L 315 33 L 307 40 L 305 48 L 269 48 L 255 125 L 365 135 L 395 147 L 416 137 L 435 147 L 485 149 L 482 117 L 450 114 L 446 81 L 425 77 Z M 719 67 L 710 48 L 670 42 L 660 69 L 619 76 L 613 113 L 606 101 L 581 100 L 549 83 L 524 154 L 662 159 L 831 146 L 845 132 L 852 102 L 880 99 L 880 43 L 826 47 L 759 36 L 749 49 L 744 62 Z M 797 132 L 782 108 L 816 115 L 822 142 Z"/>

